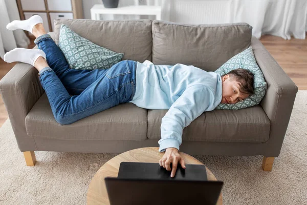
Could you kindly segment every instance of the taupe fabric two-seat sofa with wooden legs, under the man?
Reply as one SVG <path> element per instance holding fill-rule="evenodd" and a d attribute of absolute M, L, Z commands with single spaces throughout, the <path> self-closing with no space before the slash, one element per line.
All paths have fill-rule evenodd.
<path fill-rule="evenodd" d="M 185 25 L 159 20 L 56 19 L 58 43 L 61 24 L 115 52 L 124 59 L 153 64 L 193 65 L 214 71 L 250 45 L 268 83 L 265 98 L 242 110 L 203 113 L 183 131 L 180 151 L 194 155 L 264 155 L 262 168 L 272 169 L 280 153 L 297 87 L 274 58 L 251 35 L 245 23 Z M 27 165 L 35 164 L 34 151 L 122 153 L 158 147 L 161 118 L 167 110 L 147 110 L 121 104 L 70 125 L 56 122 L 37 70 L 18 63 L 0 81 L 18 147 Z M 260 165 L 259 165 L 260 166 Z"/>

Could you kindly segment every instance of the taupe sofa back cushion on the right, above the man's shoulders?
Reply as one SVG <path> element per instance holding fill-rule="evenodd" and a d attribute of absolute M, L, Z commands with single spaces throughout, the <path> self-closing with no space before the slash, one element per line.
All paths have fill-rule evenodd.
<path fill-rule="evenodd" d="M 215 71 L 251 44 L 246 23 L 191 25 L 153 20 L 152 63 L 193 65 Z"/>

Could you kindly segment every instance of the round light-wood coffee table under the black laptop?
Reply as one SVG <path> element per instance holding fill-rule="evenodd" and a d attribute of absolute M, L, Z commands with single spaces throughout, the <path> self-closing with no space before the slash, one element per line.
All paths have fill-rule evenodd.
<path fill-rule="evenodd" d="M 104 178 L 117 177 L 119 165 L 122 161 L 159 163 L 164 153 L 159 152 L 158 147 L 140 148 L 124 152 L 108 160 L 94 175 L 87 190 L 86 204 L 109 204 Z M 180 152 L 180 155 L 184 158 L 186 164 L 203 165 L 202 162 L 186 153 Z M 208 180 L 216 181 L 215 176 L 207 167 L 206 171 Z M 216 204 L 221 205 L 222 202 L 221 193 Z"/>

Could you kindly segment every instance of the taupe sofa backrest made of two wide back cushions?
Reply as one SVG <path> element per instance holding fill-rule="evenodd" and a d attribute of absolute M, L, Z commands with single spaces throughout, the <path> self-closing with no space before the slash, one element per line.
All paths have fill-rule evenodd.
<path fill-rule="evenodd" d="M 67 25 L 91 42 L 125 53 L 130 59 L 155 65 L 193 65 L 215 71 L 232 56 L 251 45 L 252 27 L 235 24 L 182 24 L 163 20 L 55 19 L 55 42 Z"/>

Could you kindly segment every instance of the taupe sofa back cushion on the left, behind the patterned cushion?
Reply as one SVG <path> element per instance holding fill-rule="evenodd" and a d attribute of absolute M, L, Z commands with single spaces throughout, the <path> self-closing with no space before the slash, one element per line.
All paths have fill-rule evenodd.
<path fill-rule="evenodd" d="M 125 53 L 122 60 L 151 61 L 151 20 L 55 19 L 55 43 L 62 24 L 98 46 Z"/>

